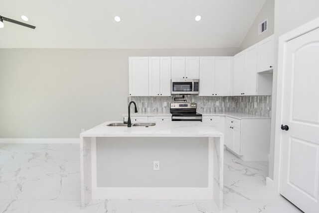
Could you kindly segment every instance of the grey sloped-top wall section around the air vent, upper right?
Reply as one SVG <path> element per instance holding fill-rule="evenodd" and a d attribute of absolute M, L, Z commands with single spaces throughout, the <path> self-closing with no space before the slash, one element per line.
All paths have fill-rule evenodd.
<path fill-rule="evenodd" d="M 254 23 L 247 32 L 245 39 L 240 45 L 241 51 L 274 34 L 274 7 L 275 0 L 267 0 L 264 3 L 257 17 L 255 18 Z M 262 34 L 258 35 L 258 26 L 266 19 L 268 19 L 268 29 Z"/>

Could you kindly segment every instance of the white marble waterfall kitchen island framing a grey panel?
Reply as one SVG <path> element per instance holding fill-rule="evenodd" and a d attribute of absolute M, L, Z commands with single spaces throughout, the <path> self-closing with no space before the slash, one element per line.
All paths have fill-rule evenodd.
<path fill-rule="evenodd" d="M 107 126 L 107 121 L 80 134 L 81 204 L 84 209 L 92 199 L 104 200 L 213 200 L 219 210 L 223 206 L 223 145 L 224 136 L 209 123 L 198 121 L 158 122 L 155 126 Z M 207 140 L 207 186 L 205 187 L 101 187 L 98 184 L 97 140 L 148 143 L 161 140 L 192 143 Z M 139 147 L 138 147 L 139 148 Z M 196 162 L 195 162 L 196 163 Z M 175 168 L 178 170 L 178 168 Z M 198 174 L 200 175 L 200 174 Z M 101 179 L 101 177 L 100 177 Z M 100 180 L 99 179 L 99 180 Z"/>

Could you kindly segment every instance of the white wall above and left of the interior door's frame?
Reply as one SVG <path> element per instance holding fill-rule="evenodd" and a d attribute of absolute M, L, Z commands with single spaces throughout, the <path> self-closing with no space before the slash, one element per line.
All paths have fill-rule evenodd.
<path fill-rule="evenodd" d="M 275 1 L 275 31 L 274 31 L 274 75 L 272 101 L 272 129 L 269 159 L 269 177 L 274 175 L 274 147 L 277 95 L 277 65 L 278 65 L 278 37 L 298 26 L 319 17 L 319 0 L 276 0 Z"/>

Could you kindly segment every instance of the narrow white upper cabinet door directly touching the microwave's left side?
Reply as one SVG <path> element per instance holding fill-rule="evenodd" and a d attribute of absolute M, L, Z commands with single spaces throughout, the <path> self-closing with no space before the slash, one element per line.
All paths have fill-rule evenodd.
<path fill-rule="evenodd" d="M 170 96 L 170 57 L 160 57 L 160 96 Z"/>

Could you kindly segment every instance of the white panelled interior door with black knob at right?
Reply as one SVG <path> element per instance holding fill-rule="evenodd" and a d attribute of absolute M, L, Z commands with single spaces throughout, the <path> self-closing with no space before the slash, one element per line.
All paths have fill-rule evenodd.
<path fill-rule="evenodd" d="M 286 43 L 280 193 L 319 213 L 319 29 Z"/>

